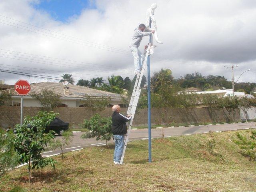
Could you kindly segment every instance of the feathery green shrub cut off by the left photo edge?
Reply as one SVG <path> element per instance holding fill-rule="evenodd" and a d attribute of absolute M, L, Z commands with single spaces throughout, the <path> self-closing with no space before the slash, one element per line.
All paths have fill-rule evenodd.
<path fill-rule="evenodd" d="M 14 150 L 15 135 L 0 129 L 0 178 L 17 166 L 20 156 Z"/>

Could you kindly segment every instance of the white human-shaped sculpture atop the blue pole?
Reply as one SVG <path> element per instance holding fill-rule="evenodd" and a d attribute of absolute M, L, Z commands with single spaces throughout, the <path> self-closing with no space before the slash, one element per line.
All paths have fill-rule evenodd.
<path fill-rule="evenodd" d="M 152 30 L 152 28 L 150 27 L 150 22 L 152 22 L 152 25 L 154 26 L 154 30 L 155 30 L 153 36 L 154 36 L 154 38 L 155 38 L 157 43 L 162 44 L 163 42 L 158 40 L 156 19 L 154 18 L 154 12 L 155 12 L 156 8 L 157 8 L 157 4 L 153 3 L 150 6 L 150 8 L 147 9 L 147 12 L 146 12 L 146 22 L 145 22 L 145 25 L 146 25 L 145 32 L 150 32 Z M 153 45 L 153 40 L 151 40 L 151 41 L 152 42 L 150 42 L 150 43 Z"/>

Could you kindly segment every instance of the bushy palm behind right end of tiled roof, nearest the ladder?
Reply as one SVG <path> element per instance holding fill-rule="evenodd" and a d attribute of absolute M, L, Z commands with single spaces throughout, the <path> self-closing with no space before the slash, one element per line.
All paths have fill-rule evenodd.
<path fill-rule="evenodd" d="M 112 75 L 111 77 L 108 77 L 108 83 L 102 85 L 102 90 L 122 94 L 123 90 L 122 87 L 124 85 L 124 81 L 120 80 L 120 76 Z"/>

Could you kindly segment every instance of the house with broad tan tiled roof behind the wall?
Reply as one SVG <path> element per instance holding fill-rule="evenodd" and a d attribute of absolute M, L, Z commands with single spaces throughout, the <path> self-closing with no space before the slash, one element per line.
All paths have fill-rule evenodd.
<path fill-rule="evenodd" d="M 120 94 L 115 94 L 111 92 L 106 92 L 102 90 L 92 89 L 88 87 L 67 84 L 64 86 L 62 83 L 56 82 L 40 82 L 31 84 L 31 92 L 36 94 L 40 93 L 44 89 L 52 90 L 56 94 L 60 95 L 60 106 L 64 107 L 83 107 L 83 100 L 86 100 L 87 96 L 95 98 L 110 98 L 110 106 L 115 104 L 122 104 L 122 96 Z M 13 88 L 14 89 L 14 88 Z M 9 90 L 13 90 L 9 89 Z M 30 92 L 30 93 L 31 93 Z M 20 106 L 21 96 L 19 96 L 15 91 L 12 96 L 12 100 L 6 103 L 7 106 Z M 25 107 L 40 107 L 40 103 L 32 98 L 29 94 L 23 97 L 23 106 Z"/>

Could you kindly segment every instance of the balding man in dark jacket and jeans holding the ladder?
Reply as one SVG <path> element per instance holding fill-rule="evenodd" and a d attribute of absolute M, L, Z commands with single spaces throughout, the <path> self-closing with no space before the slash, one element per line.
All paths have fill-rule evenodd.
<path fill-rule="evenodd" d="M 114 105 L 112 107 L 112 133 L 114 134 L 115 150 L 114 150 L 114 164 L 119 165 L 124 149 L 124 135 L 127 132 L 126 122 L 131 120 L 131 116 L 124 116 L 120 113 L 120 106 Z"/>

